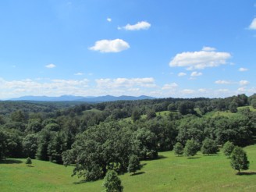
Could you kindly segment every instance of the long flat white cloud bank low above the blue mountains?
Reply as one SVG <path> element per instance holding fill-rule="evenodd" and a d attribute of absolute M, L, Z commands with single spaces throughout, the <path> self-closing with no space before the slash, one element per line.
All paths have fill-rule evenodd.
<path fill-rule="evenodd" d="M 114 89 L 118 87 L 156 87 L 154 78 L 117 78 L 95 80 L 97 87 Z"/>

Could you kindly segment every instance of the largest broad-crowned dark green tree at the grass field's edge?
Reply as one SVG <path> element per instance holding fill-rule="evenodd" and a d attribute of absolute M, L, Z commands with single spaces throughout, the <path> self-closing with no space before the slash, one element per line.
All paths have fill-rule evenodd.
<path fill-rule="evenodd" d="M 63 153 L 65 165 L 76 162 L 73 175 L 86 180 L 105 176 L 112 163 L 120 165 L 119 172 L 126 172 L 131 155 L 131 132 L 119 123 L 101 123 L 80 134 L 71 150 Z M 83 151 L 83 152 L 80 152 Z"/>

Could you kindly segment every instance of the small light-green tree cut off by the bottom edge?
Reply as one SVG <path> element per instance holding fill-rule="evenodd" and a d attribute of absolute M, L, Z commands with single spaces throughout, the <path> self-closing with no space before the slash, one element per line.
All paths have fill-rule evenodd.
<path fill-rule="evenodd" d="M 105 187 L 106 192 L 122 192 L 122 182 L 113 170 L 109 170 L 104 177 L 102 187 Z"/>

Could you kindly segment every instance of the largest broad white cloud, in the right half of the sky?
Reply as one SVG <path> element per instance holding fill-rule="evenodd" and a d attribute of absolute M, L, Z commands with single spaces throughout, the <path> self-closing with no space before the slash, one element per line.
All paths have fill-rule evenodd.
<path fill-rule="evenodd" d="M 169 62 L 169 66 L 187 67 L 187 69 L 204 69 L 226 64 L 226 60 L 231 58 L 228 52 L 182 52 Z"/>

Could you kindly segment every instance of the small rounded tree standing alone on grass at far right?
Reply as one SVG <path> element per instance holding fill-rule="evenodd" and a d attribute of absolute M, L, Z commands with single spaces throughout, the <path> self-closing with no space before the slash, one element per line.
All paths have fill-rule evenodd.
<path fill-rule="evenodd" d="M 235 147 L 231 154 L 231 167 L 240 173 L 240 170 L 249 169 L 249 164 L 250 162 L 247 160 L 247 153 L 243 148 Z"/>

